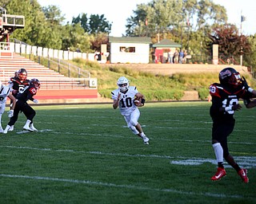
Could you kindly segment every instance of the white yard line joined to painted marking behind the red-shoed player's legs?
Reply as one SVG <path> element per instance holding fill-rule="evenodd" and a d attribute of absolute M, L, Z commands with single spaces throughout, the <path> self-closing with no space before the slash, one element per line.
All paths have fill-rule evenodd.
<path fill-rule="evenodd" d="M 113 156 L 123 156 L 123 157 L 144 157 L 144 158 L 158 158 L 158 159 L 171 159 L 170 164 L 175 165 L 201 165 L 203 163 L 212 163 L 217 164 L 216 159 L 208 158 L 198 158 L 198 157 L 174 157 L 168 155 L 130 155 L 127 153 L 110 153 L 102 151 L 74 151 L 74 150 L 60 150 L 60 149 L 51 149 L 51 148 L 37 148 L 37 147 L 21 147 L 21 146 L 0 146 L 5 148 L 14 148 L 14 149 L 28 149 L 36 151 L 62 151 L 62 152 L 73 152 L 73 153 L 82 153 L 82 154 L 92 154 L 92 155 L 113 155 Z M 234 156 L 234 158 L 241 164 L 242 167 L 248 169 L 256 167 L 256 157 L 254 156 Z M 175 160 L 174 160 L 175 159 Z M 226 164 L 226 163 L 225 163 Z M 229 165 L 226 167 L 230 167 Z"/>

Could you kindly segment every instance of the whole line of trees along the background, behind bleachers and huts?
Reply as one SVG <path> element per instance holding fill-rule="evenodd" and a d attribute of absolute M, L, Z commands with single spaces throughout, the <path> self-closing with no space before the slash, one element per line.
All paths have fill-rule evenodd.
<path fill-rule="evenodd" d="M 108 44 L 112 25 L 104 14 L 82 13 L 66 22 L 58 6 L 40 6 L 37 0 L 0 2 L 7 14 L 25 16 L 25 28 L 11 37 L 29 45 L 91 53 Z M 212 0 L 151 0 L 138 4 L 126 19 L 123 36 L 150 37 L 153 44 L 168 38 L 201 57 L 211 56 L 212 45 L 218 44 L 223 61 L 240 61 L 242 56 L 243 65 L 254 70 L 256 35 L 243 35 L 227 20 L 225 7 Z"/>

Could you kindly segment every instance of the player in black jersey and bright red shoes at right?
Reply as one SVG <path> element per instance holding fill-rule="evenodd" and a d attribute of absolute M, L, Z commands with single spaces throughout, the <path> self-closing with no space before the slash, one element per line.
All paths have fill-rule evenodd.
<path fill-rule="evenodd" d="M 238 172 L 243 182 L 249 182 L 246 169 L 239 167 L 229 153 L 227 137 L 234 129 L 234 112 L 242 108 L 238 100 L 243 99 L 246 108 L 253 108 L 256 106 L 256 100 L 250 99 L 256 96 L 256 91 L 249 87 L 245 78 L 242 80 L 240 74 L 230 67 L 222 69 L 219 73 L 219 81 L 220 84 L 210 84 L 212 96 L 210 116 L 213 120 L 212 146 L 218 162 L 217 172 L 211 180 L 218 181 L 226 176 L 223 166 L 224 158 Z"/>

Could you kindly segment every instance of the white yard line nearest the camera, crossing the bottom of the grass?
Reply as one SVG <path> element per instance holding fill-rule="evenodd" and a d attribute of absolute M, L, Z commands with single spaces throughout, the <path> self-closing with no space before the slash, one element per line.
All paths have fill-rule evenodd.
<path fill-rule="evenodd" d="M 242 195 L 237 194 L 213 194 L 213 193 L 194 193 L 194 192 L 186 192 L 182 190 L 174 190 L 174 189 L 155 189 L 146 186 L 133 186 L 133 185 L 125 185 L 125 184 L 114 184 L 108 182 L 94 182 L 94 181 L 86 181 L 86 180 L 76 180 L 76 179 L 58 179 L 58 178 L 50 178 L 50 177 L 42 177 L 42 176 L 29 176 L 29 175 L 5 175 L 1 174 L 1 177 L 6 178 L 14 178 L 14 179 L 34 179 L 34 180 L 47 180 L 52 182 L 73 182 L 78 184 L 89 184 L 89 185 L 97 185 L 97 186 L 107 186 L 107 187 L 116 187 L 116 188 L 126 188 L 132 190 L 150 190 L 150 191 L 158 191 L 158 192 L 169 192 L 174 194 L 187 194 L 187 195 L 200 195 L 205 197 L 214 197 L 214 198 L 243 198 Z"/>

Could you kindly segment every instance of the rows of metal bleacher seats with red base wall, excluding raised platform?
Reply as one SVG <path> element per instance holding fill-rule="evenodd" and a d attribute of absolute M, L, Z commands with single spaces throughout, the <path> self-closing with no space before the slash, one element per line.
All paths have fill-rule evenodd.
<path fill-rule="evenodd" d="M 54 99 L 98 98 L 97 87 L 89 86 L 90 79 L 65 77 L 52 69 L 20 56 L 18 53 L 1 50 L 0 80 L 3 84 L 8 84 L 10 77 L 14 77 L 15 71 L 22 68 L 26 69 L 29 79 L 40 80 L 39 99 L 52 101 Z"/>

